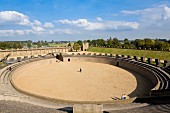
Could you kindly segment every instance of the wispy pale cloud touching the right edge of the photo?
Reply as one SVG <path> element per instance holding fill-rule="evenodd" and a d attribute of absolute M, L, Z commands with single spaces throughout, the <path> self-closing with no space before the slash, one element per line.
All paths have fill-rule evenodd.
<path fill-rule="evenodd" d="M 170 8 L 165 5 L 146 8 L 142 10 L 128 11 L 124 10 L 121 13 L 125 15 L 135 15 L 139 17 L 140 26 L 163 26 L 164 23 L 170 22 Z"/>

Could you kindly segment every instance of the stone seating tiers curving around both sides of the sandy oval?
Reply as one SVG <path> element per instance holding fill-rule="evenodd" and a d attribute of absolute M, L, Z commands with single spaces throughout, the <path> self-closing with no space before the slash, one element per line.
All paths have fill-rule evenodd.
<path fill-rule="evenodd" d="M 143 74 L 145 74 L 145 71 L 147 71 L 149 74 L 145 74 L 145 76 L 148 76 L 149 79 L 155 79 L 153 80 L 154 87 L 151 89 L 150 96 L 170 96 L 170 75 L 166 73 L 164 70 L 162 70 L 159 67 L 147 64 L 145 62 L 135 61 L 132 58 L 126 58 L 126 57 L 120 57 L 120 56 L 113 56 L 112 54 L 97 54 L 97 53 L 71 53 L 71 54 L 63 54 L 64 57 L 73 57 L 73 56 L 79 56 L 79 57 L 97 57 L 97 58 L 107 58 L 109 59 L 107 63 L 110 63 L 111 65 L 116 65 L 121 68 L 127 68 L 126 66 L 134 66 L 138 69 L 141 69 Z M 21 62 L 11 64 L 3 69 L 0 70 L 0 96 L 3 97 L 3 99 L 0 100 L 14 100 L 14 101 L 21 101 L 26 103 L 31 103 L 34 105 L 49 107 L 49 108 L 64 108 L 64 107 L 72 107 L 72 104 L 63 104 L 63 103 L 56 103 L 51 102 L 48 100 L 43 100 L 41 98 L 33 97 L 30 95 L 27 95 L 25 93 L 21 93 L 18 90 L 16 90 L 12 84 L 11 84 L 11 74 L 12 72 L 17 69 L 18 67 L 34 62 L 37 60 L 43 60 L 46 58 L 52 58 L 49 56 L 39 57 L 39 58 L 23 58 Z M 111 62 L 114 61 L 114 62 Z M 101 60 L 102 62 L 102 60 Z M 123 65 L 126 64 L 126 65 Z M 8 70 L 7 68 L 11 67 L 12 70 Z M 128 68 L 129 69 L 129 68 Z M 154 77 L 149 76 L 150 74 L 153 74 Z"/>

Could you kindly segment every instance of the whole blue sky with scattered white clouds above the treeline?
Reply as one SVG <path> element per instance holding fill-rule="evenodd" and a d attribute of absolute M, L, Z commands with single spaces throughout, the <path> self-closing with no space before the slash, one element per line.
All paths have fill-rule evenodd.
<path fill-rule="evenodd" d="M 0 41 L 170 39 L 170 0 L 0 0 Z"/>

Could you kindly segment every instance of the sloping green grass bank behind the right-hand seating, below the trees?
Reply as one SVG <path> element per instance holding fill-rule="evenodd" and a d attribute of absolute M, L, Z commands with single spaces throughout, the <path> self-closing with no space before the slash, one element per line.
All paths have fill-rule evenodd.
<path fill-rule="evenodd" d="M 151 51 L 151 50 L 133 50 L 133 49 L 117 49 L 117 48 L 100 48 L 100 47 L 90 47 L 88 51 L 100 52 L 100 53 L 110 53 L 119 55 L 131 55 L 145 58 L 170 60 L 170 52 L 168 51 Z"/>

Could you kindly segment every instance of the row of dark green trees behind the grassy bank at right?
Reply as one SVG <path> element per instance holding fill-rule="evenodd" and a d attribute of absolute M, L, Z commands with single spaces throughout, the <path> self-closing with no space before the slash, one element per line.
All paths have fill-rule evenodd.
<path fill-rule="evenodd" d="M 160 39 L 135 39 L 129 41 L 125 38 L 123 41 L 117 38 L 109 38 L 107 40 L 97 39 L 97 40 L 86 40 L 90 46 L 94 47 L 110 47 L 110 48 L 125 48 L 125 49 L 152 49 L 152 50 L 170 50 L 170 40 L 160 40 Z M 82 41 L 78 40 L 80 46 Z"/>

